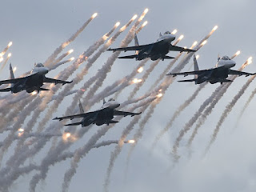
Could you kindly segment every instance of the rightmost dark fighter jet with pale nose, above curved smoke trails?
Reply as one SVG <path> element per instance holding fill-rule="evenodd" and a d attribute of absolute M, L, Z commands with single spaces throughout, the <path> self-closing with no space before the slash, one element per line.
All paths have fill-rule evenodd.
<path fill-rule="evenodd" d="M 246 72 L 242 72 L 239 70 L 231 70 L 231 67 L 234 67 L 236 62 L 231 60 L 228 56 L 223 56 L 222 58 L 218 57 L 218 63 L 216 66 L 210 70 L 199 70 L 197 59 L 194 56 L 194 71 L 182 72 L 182 73 L 170 73 L 167 75 L 173 75 L 174 77 L 177 75 L 184 75 L 186 77 L 189 74 L 194 74 L 193 79 L 186 79 L 178 82 L 194 82 L 195 84 L 201 84 L 202 82 L 210 82 L 214 84 L 216 82 L 232 82 L 228 78 L 228 75 L 254 75 Z"/>

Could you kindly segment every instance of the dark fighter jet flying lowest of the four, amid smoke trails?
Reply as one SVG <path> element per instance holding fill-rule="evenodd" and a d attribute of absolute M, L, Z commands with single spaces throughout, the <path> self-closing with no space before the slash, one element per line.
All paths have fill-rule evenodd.
<path fill-rule="evenodd" d="M 54 118 L 53 120 L 59 120 L 62 121 L 63 119 L 68 119 L 70 120 L 74 118 L 82 118 L 81 122 L 74 122 L 67 124 L 65 126 L 90 126 L 90 124 L 96 124 L 97 126 L 102 126 L 103 124 L 110 125 L 111 123 L 117 123 L 118 121 L 112 120 L 114 116 L 122 115 L 126 117 L 127 115 L 130 115 L 133 117 L 134 115 L 138 115 L 141 113 L 131 113 L 131 112 L 126 112 L 126 111 L 121 111 L 121 110 L 116 110 L 120 104 L 118 102 L 115 102 L 113 98 L 110 98 L 108 102 L 103 99 L 103 106 L 99 110 L 91 111 L 88 113 L 85 113 L 82 104 L 79 101 L 79 109 L 80 109 L 80 114 L 74 114 L 70 116 L 65 116 L 62 118 Z"/>

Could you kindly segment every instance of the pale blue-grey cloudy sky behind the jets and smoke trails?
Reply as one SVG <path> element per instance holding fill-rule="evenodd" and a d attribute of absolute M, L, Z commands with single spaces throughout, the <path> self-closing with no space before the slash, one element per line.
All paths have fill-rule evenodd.
<path fill-rule="evenodd" d="M 13 42 L 13 46 L 10 47 L 10 52 L 12 53 L 10 62 L 13 66 L 18 67 L 15 73 L 16 76 L 31 70 L 34 62 L 46 61 L 46 58 L 62 42 L 70 38 L 94 12 L 98 12 L 98 17 L 90 22 L 86 30 L 64 50 L 74 49 L 71 57 L 78 57 L 98 38 L 106 34 L 114 26 L 115 22 L 121 22 L 121 26 L 125 25 L 134 14 L 142 14 L 145 8 L 149 8 L 149 12 L 146 14 L 146 18 L 144 18 L 145 21 L 148 21 L 148 25 L 138 34 L 140 44 L 154 42 L 158 38 L 159 32 L 164 33 L 166 30 L 172 31 L 177 29 L 177 37 L 181 34 L 185 36 L 178 46 L 191 46 L 194 41 L 199 41 L 215 25 L 218 25 L 218 30 L 209 38 L 206 46 L 197 53 L 200 55 L 198 59 L 199 69 L 208 69 L 215 66 L 218 54 L 231 56 L 237 50 L 241 50 L 242 53 L 234 59 L 237 62 L 234 70 L 238 70 L 242 63 L 246 62 L 246 59 L 250 56 L 253 59 L 255 57 L 254 18 L 256 2 L 252 0 L 158 2 L 134 0 L 46 0 L 39 2 L 24 0 L 4 1 L 1 3 L 1 6 L 0 49 L 3 50 L 8 42 Z M 119 46 L 127 31 L 120 35 L 111 47 Z M 133 43 L 131 42 L 130 45 L 133 45 Z M 93 76 L 111 54 L 110 52 L 102 54 L 101 58 L 94 63 L 84 81 Z M 121 55 L 126 54 L 122 53 Z M 175 56 L 177 54 L 171 52 L 168 55 Z M 159 62 L 137 96 L 145 94 L 150 84 L 154 83 L 158 74 L 162 73 L 162 70 L 165 69 L 169 62 Z M 51 71 L 47 74 L 47 77 L 53 78 L 54 75 L 70 64 L 67 63 Z M 189 70 L 191 64 L 192 62 L 190 61 L 184 70 Z M 102 88 L 129 74 L 137 65 L 138 62 L 134 60 L 118 59 L 114 63 L 112 71 L 108 78 L 106 78 Z M 149 65 L 150 62 L 147 62 L 146 66 Z M 256 71 L 254 62 L 247 66 L 245 71 L 254 73 Z M 74 78 L 74 76 L 75 74 L 69 79 Z M 0 77 L 1 80 L 9 78 L 8 66 L 2 71 Z M 203 152 L 210 141 L 210 136 L 222 111 L 225 110 L 225 106 L 248 78 L 237 78 L 224 97 L 218 102 L 218 105 L 215 106 L 213 113 L 207 118 L 194 140 L 191 156 L 188 155 L 186 149 L 186 141 L 191 134 L 189 132 L 183 138 L 181 147 L 178 150 L 178 154 L 182 158 L 176 166 L 170 168 L 173 165 L 170 150 L 174 144 L 174 139 L 178 136 L 179 130 L 182 129 L 185 123 L 198 110 L 202 102 L 210 96 L 219 84 L 209 84 L 200 92 L 198 98 L 176 119 L 171 131 L 161 139 L 154 153 L 150 154 L 150 147 L 155 136 L 166 126 L 166 123 L 178 106 L 186 98 L 189 98 L 198 87 L 193 83 L 178 83 L 177 80 L 181 79 L 183 77 L 176 78 L 175 82 L 166 91 L 162 102 L 155 109 L 153 118 L 150 118 L 150 121 L 147 123 L 142 140 L 138 142 L 138 146 L 136 146 L 132 154 L 127 174 L 126 157 L 129 146 L 125 145 L 123 147 L 122 153 L 118 156 L 111 174 L 110 191 L 255 191 L 256 152 L 254 148 L 256 130 L 254 127 L 254 106 L 256 102 L 254 100 L 250 103 L 250 106 L 238 123 L 238 127 L 234 129 L 242 106 L 255 88 L 255 82 L 251 83 L 246 93 L 242 95 L 237 105 L 234 106 L 234 110 L 231 111 L 223 123 L 214 145 L 209 153 L 203 157 Z M 78 89 L 79 85 L 75 86 L 75 88 Z M 118 102 L 125 102 L 127 94 L 130 94 L 132 89 L 133 86 L 126 88 L 118 98 Z M 71 100 L 72 96 L 69 96 L 65 101 L 70 102 Z M 66 102 L 62 102 L 54 116 L 63 114 L 63 110 L 66 110 Z M 96 110 L 101 105 L 102 103 L 98 103 L 91 110 Z M 128 117 L 123 118 L 101 141 L 118 139 L 122 130 L 131 119 Z M 94 134 L 94 129 L 96 130 L 98 127 L 94 126 L 88 134 L 77 143 L 74 143 L 70 150 L 84 145 L 90 136 Z M 138 129 L 138 125 L 135 126 L 134 130 L 136 129 Z M 130 134 L 129 138 L 132 138 L 133 134 L 134 131 Z M 5 137 L 2 135 L 0 138 Z M 47 154 L 49 146 L 46 146 L 40 154 L 31 159 L 31 162 L 40 162 Z M 14 149 L 14 146 L 6 154 L 5 160 L 12 154 L 11 149 Z M 70 183 L 69 191 L 101 191 L 112 150 L 114 150 L 114 146 L 91 150 L 90 154 L 79 163 L 77 173 Z M 41 182 L 36 190 L 60 191 L 63 175 L 69 166 L 70 160 L 51 166 L 46 181 Z M 36 171 L 33 171 L 24 177 L 18 178 L 10 191 L 28 191 L 30 179 L 35 173 Z"/>

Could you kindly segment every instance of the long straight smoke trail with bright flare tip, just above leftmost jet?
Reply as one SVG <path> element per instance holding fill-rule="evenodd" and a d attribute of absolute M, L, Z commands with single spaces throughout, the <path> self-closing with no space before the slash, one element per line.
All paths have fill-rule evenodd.
<path fill-rule="evenodd" d="M 83 30 L 85 30 L 86 26 L 97 16 L 97 14 L 93 14 L 83 25 L 80 27 L 77 32 L 75 32 L 66 42 L 63 42 L 61 46 L 59 46 L 56 50 L 54 50 L 54 53 L 50 55 L 49 58 L 46 59 L 46 62 L 44 62 L 44 66 L 49 66 L 50 63 L 54 62 L 54 59 L 62 52 L 62 50 L 70 44 L 70 42 L 73 42 L 75 38 L 78 37 L 79 34 L 82 33 Z"/>

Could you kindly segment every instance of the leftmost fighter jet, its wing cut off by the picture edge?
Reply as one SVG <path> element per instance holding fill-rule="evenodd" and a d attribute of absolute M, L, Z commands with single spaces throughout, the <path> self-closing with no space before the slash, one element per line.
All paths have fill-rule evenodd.
<path fill-rule="evenodd" d="M 9 88 L 2 89 L 0 92 L 8 92 L 11 91 L 12 94 L 16 94 L 22 90 L 26 90 L 27 93 L 31 93 L 34 90 L 38 92 L 40 90 L 47 90 L 46 88 L 42 88 L 44 82 L 48 83 L 62 83 L 62 85 L 70 82 L 65 82 L 62 80 L 54 79 L 54 78 L 46 78 L 46 74 L 48 73 L 48 69 L 42 65 L 42 63 L 34 64 L 33 70 L 31 70 L 30 75 L 23 78 L 14 78 L 14 71 L 10 64 L 10 79 L 0 81 L 0 86 L 2 84 L 10 84 Z"/>

